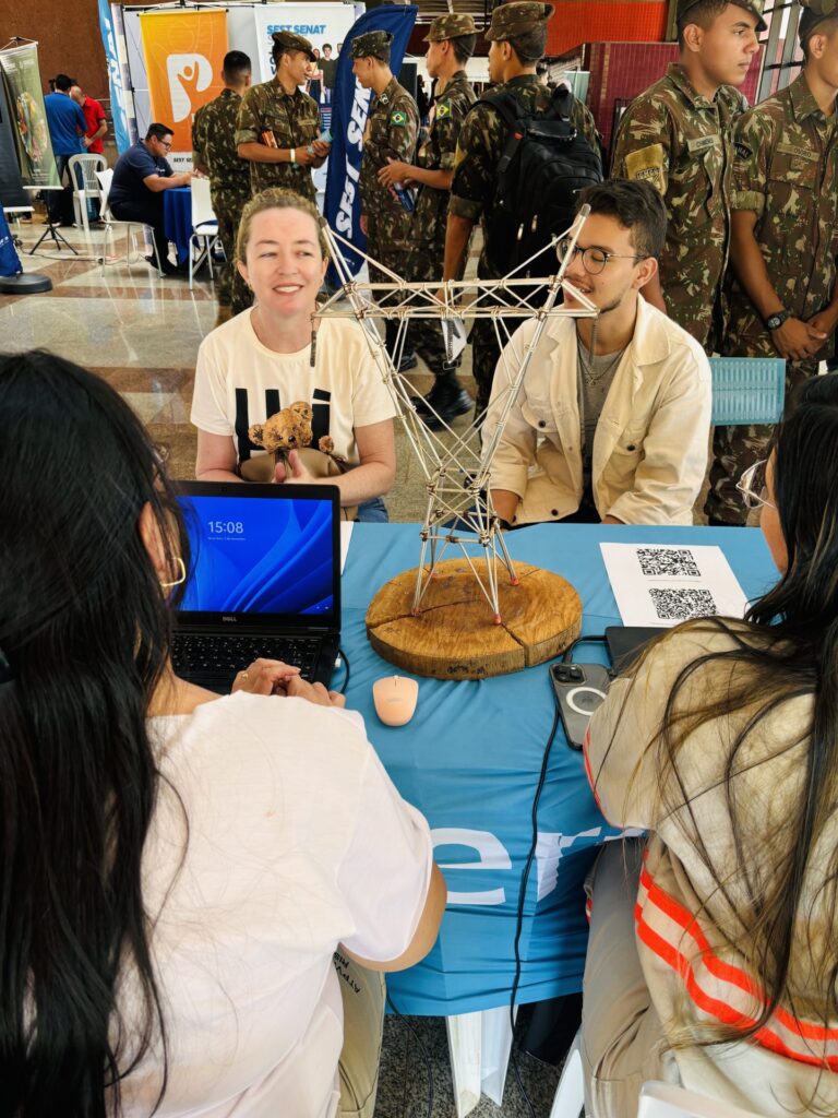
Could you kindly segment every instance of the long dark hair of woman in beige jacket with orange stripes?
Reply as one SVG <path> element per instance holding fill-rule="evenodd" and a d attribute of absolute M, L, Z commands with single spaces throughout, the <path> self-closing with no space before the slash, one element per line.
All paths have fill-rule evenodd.
<path fill-rule="evenodd" d="M 768 453 L 787 568 L 744 622 L 706 618 L 664 638 L 704 631 L 729 639 L 725 651 L 701 655 L 680 671 L 655 737 L 663 814 L 679 821 L 715 883 L 714 902 L 732 913 L 735 935 L 731 928 L 717 931 L 759 977 L 762 998 L 751 1027 L 686 1030 L 676 1046 L 751 1035 L 781 1005 L 823 1027 L 838 1020 L 838 849 L 829 840 L 838 827 L 838 373 L 802 387 Z M 802 723 L 800 703 L 789 705 L 798 700 L 811 712 Z M 726 750 L 723 792 L 735 896 L 725 877 L 726 850 L 720 855 L 718 835 L 707 834 L 694 814 L 687 788 L 695 781 L 683 767 L 689 762 L 679 758 L 687 738 L 716 719 Z M 785 728 L 784 739 L 778 739 L 778 726 Z M 772 815 L 775 830 L 759 858 L 754 805 L 743 803 L 735 780 L 761 762 L 755 758 L 780 760 L 774 777 L 790 777 L 777 789 L 782 811 L 777 819 Z"/>

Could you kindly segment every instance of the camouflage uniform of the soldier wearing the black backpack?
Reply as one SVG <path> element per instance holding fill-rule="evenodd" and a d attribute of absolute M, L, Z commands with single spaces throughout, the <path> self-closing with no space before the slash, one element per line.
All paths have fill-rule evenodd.
<path fill-rule="evenodd" d="M 493 13 L 495 17 L 512 4 L 503 4 Z M 517 6 L 515 6 L 517 7 Z M 539 7 L 542 4 L 526 4 Z M 546 7 L 550 7 L 549 4 Z M 545 113 L 553 98 L 553 91 L 542 85 L 535 74 L 522 74 L 493 88 L 494 93 L 512 93 L 522 110 L 530 114 Z M 594 151 L 599 151 L 597 125 L 590 111 L 581 102 L 573 100 L 571 120 Z M 476 104 L 469 112 L 459 138 L 454 157 L 454 182 L 448 212 L 476 222 L 491 210 L 496 189 L 496 169 L 506 143 L 507 129 L 501 114 L 487 104 Z M 484 246 L 477 264 L 477 276 L 480 280 L 497 280 L 499 274 L 492 267 L 487 254 L 488 226 L 484 220 Z M 495 366 L 501 357 L 501 350 L 495 335 L 492 319 L 476 319 L 472 328 L 473 372 L 477 382 L 477 415 L 488 406 L 492 392 L 492 380 Z"/>

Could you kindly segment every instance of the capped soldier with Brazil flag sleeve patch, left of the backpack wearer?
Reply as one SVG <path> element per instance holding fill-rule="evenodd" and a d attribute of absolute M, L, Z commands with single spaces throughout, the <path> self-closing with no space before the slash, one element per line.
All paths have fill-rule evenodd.
<path fill-rule="evenodd" d="M 416 282 L 434 282 L 442 275 L 454 154 L 463 121 L 475 101 L 464 67 L 474 54 L 477 28 L 470 16 L 438 16 L 425 41 L 429 45 L 426 66 L 437 80 L 437 89 L 430 127 L 420 135 L 417 165 L 391 160 L 379 171 L 379 182 L 384 187 L 394 182 L 419 184 L 410 222 L 410 257 L 404 267 L 406 278 Z M 408 337 L 435 376 L 428 394 L 434 413 L 448 423 L 470 411 L 472 398 L 457 380 L 460 358 L 449 361 L 439 322 L 416 319 Z M 440 426 L 423 399 L 417 401 L 417 410 L 428 426 Z"/>

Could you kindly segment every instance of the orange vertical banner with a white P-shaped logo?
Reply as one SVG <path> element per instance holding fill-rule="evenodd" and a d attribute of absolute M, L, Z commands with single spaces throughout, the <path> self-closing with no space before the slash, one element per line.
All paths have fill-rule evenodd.
<path fill-rule="evenodd" d="M 223 88 L 226 11 L 140 16 L 151 120 L 174 130 L 173 152 L 192 151 L 192 117 Z"/>

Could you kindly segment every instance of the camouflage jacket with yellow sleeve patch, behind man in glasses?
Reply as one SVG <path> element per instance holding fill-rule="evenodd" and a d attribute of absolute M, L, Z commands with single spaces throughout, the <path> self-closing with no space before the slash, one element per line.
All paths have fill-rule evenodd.
<path fill-rule="evenodd" d="M 713 101 L 673 64 L 631 102 L 620 121 L 611 174 L 646 179 L 666 201 L 669 224 L 660 286 L 669 316 L 713 349 L 721 338 L 733 190 L 733 125 L 747 108 L 720 86 Z"/>

